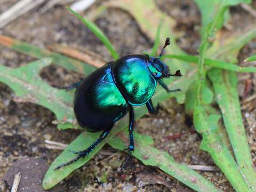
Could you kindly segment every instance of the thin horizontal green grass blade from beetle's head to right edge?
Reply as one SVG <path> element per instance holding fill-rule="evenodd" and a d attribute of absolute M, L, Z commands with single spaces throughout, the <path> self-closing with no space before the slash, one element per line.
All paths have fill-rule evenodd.
<path fill-rule="evenodd" d="M 166 58 L 173 58 L 173 59 L 179 59 L 186 62 L 193 62 L 198 63 L 199 58 L 197 56 L 193 55 L 174 55 L 174 54 L 167 54 L 163 56 L 163 59 Z M 226 69 L 230 71 L 236 71 L 238 73 L 256 73 L 256 67 L 239 67 L 237 65 L 234 65 L 232 63 L 228 63 L 221 60 L 214 60 L 214 59 L 204 59 L 204 64 L 206 66 L 220 68 L 220 69 Z M 209 68 L 207 68 L 209 69 Z"/>

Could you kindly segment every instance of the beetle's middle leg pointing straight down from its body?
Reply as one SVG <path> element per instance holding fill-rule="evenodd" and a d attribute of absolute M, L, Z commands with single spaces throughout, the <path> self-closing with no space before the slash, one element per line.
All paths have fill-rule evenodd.
<path fill-rule="evenodd" d="M 129 105 L 129 117 L 130 117 L 130 122 L 129 122 L 129 137 L 130 137 L 130 145 L 128 148 L 128 155 L 124 161 L 124 163 L 121 166 L 121 170 L 124 169 L 126 163 L 128 162 L 130 156 L 132 155 L 132 151 L 134 151 L 134 139 L 133 139 L 133 125 L 134 125 L 134 111 L 131 105 Z"/>

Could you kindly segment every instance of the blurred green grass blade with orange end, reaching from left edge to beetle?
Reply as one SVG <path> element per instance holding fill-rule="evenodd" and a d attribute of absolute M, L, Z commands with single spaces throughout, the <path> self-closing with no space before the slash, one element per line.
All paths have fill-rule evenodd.
<path fill-rule="evenodd" d="M 53 59 L 53 63 L 60 67 L 64 67 L 69 70 L 74 70 L 85 75 L 91 74 L 96 68 L 87 63 L 65 57 L 58 53 L 53 53 L 46 49 L 41 49 L 37 46 L 18 41 L 11 37 L 0 35 L 0 45 L 8 47 L 9 49 L 30 55 L 31 57 L 42 59 L 49 57 Z"/>

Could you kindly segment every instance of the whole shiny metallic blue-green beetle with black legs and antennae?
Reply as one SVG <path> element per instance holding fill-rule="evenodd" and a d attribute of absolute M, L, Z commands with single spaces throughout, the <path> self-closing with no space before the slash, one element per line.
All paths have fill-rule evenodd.
<path fill-rule="evenodd" d="M 147 54 L 126 55 L 116 61 L 106 63 L 95 70 L 81 82 L 67 87 L 68 90 L 76 88 L 74 98 L 74 113 L 77 123 L 90 132 L 102 131 L 100 137 L 92 145 L 82 151 L 70 151 L 77 157 L 55 168 L 60 169 L 76 162 L 79 158 L 87 156 L 99 143 L 107 137 L 115 122 L 125 116 L 129 111 L 129 153 L 122 165 L 122 169 L 134 151 L 133 106 L 146 105 L 150 114 L 157 115 L 159 105 L 155 108 L 151 101 L 157 82 L 167 92 L 169 90 L 162 81 L 163 77 L 181 77 L 180 70 L 170 74 L 169 67 L 161 61 L 164 49 L 170 44 L 166 38 L 164 47 L 156 57 Z"/>

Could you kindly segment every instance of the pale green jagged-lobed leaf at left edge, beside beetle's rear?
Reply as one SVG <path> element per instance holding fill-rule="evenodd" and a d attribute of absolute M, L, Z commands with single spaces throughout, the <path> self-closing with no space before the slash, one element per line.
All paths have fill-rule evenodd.
<path fill-rule="evenodd" d="M 32 102 L 50 109 L 60 122 L 58 127 L 66 129 L 73 127 L 73 94 L 48 85 L 39 76 L 40 70 L 51 62 L 51 58 L 45 58 L 14 69 L 0 65 L 0 82 L 15 92 L 14 101 Z"/>

